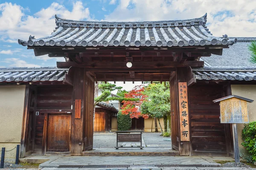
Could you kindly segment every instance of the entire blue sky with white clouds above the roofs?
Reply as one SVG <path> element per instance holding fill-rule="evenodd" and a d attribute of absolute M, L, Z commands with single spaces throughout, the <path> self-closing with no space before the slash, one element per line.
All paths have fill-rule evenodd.
<path fill-rule="evenodd" d="M 201 17 L 215 36 L 256 37 L 256 1 L 250 0 L 8 0 L 0 1 L 0 67 L 55 66 L 63 58 L 35 57 L 18 45 L 55 28 L 54 14 L 73 20 L 143 21 Z"/>

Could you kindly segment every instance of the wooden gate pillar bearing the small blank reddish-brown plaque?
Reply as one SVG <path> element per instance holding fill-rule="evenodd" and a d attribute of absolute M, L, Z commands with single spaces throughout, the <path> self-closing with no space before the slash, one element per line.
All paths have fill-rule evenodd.
<path fill-rule="evenodd" d="M 84 98 L 85 77 L 84 68 L 73 68 L 72 94 L 72 127 L 71 127 L 71 155 L 82 155 L 84 148 Z"/>

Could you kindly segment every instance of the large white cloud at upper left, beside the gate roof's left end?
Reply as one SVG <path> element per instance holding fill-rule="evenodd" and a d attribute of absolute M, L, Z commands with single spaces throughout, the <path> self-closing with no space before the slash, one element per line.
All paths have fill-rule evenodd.
<path fill-rule="evenodd" d="M 51 34 L 55 28 L 54 15 L 71 20 L 90 20 L 89 8 L 81 1 L 73 3 L 72 11 L 59 3 L 52 3 L 32 15 L 26 15 L 22 6 L 12 3 L 0 4 L 0 40 L 17 43 L 18 39 L 28 40 L 29 35 L 36 38 Z M 15 12 L 13 12 L 15 11 Z"/>

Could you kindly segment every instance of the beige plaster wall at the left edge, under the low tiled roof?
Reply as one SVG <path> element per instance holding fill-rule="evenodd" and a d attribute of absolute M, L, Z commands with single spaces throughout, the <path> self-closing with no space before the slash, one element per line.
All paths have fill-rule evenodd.
<path fill-rule="evenodd" d="M 0 86 L 0 147 L 20 143 L 24 97 L 25 85 Z"/>

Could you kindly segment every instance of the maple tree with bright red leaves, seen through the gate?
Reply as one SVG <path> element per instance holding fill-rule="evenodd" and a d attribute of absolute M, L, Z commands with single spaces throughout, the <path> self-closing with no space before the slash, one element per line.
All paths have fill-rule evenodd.
<path fill-rule="evenodd" d="M 138 119 L 139 117 L 143 117 L 144 119 L 148 119 L 148 114 L 142 114 L 140 112 L 140 105 L 143 101 L 146 100 L 146 95 L 143 94 L 145 88 L 144 85 L 135 86 L 129 93 L 125 94 L 125 98 L 134 98 L 139 99 L 137 101 L 122 101 L 122 114 L 130 114 L 131 118 Z"/>

